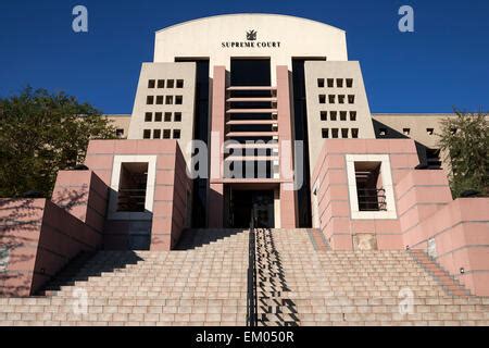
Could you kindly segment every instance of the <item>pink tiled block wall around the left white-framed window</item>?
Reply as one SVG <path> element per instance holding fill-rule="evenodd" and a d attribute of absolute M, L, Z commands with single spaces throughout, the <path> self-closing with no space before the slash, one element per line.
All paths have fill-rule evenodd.
<path fill-rule="evenodd" d="M 114 156 L 156 156 L 153 216 L 151 225 L 152 250 L 170 250 L 175 247 L 187 217 L 187 191 L 191 181 L 186 174 L 186 162 L 176 140 L 92 140 L 85 164 L 111 185 Z M 190 202 L 188 202 L 190 203 Z M 105 249 L 127 249 L 133 221 L 106 220 L 104 225 Z"/>

